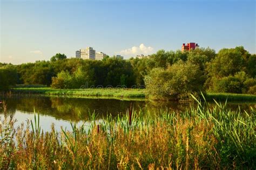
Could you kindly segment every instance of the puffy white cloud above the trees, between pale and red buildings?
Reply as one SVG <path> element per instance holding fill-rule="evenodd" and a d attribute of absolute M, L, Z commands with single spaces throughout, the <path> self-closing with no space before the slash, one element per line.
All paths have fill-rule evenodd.
<path fill-rule="evenodd" d="M 128 49 L 124 49 L 120 51 L 120 54 L 122 55 L 139 55 L 139 54 L 151 54 L 154 51 L 154 48 L 152 47 L 146 47 L 144 44 L 140 44 L 138 47 L 133 46 Z"/>

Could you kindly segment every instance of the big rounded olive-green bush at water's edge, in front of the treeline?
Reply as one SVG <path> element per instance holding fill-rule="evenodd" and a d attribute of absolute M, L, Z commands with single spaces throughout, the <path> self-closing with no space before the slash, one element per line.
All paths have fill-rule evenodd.
<path fill-rule="evenodd" d="M 188 100 L 190 94 L 204 92 L 205 76 L 198 65 L 179 61 L 167 69 L 153 69 L 146 77 L 146 91 L 149 98 Z"/>

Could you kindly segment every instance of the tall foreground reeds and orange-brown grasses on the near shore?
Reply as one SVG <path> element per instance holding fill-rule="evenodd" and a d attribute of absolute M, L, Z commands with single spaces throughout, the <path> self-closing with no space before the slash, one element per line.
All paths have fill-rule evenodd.
<path fill-rule="evenodd" d="M 39 117 L 1 126 L 0 168 L 20 169 L 255 169 L 255 111 L 198 104 L 184 112 L 127 112 L 72 131 L 43 133 Z M 31 130 L 32 125 L 32 130 Z M 15 139 L 17 143 L 15 145 Z"/>

